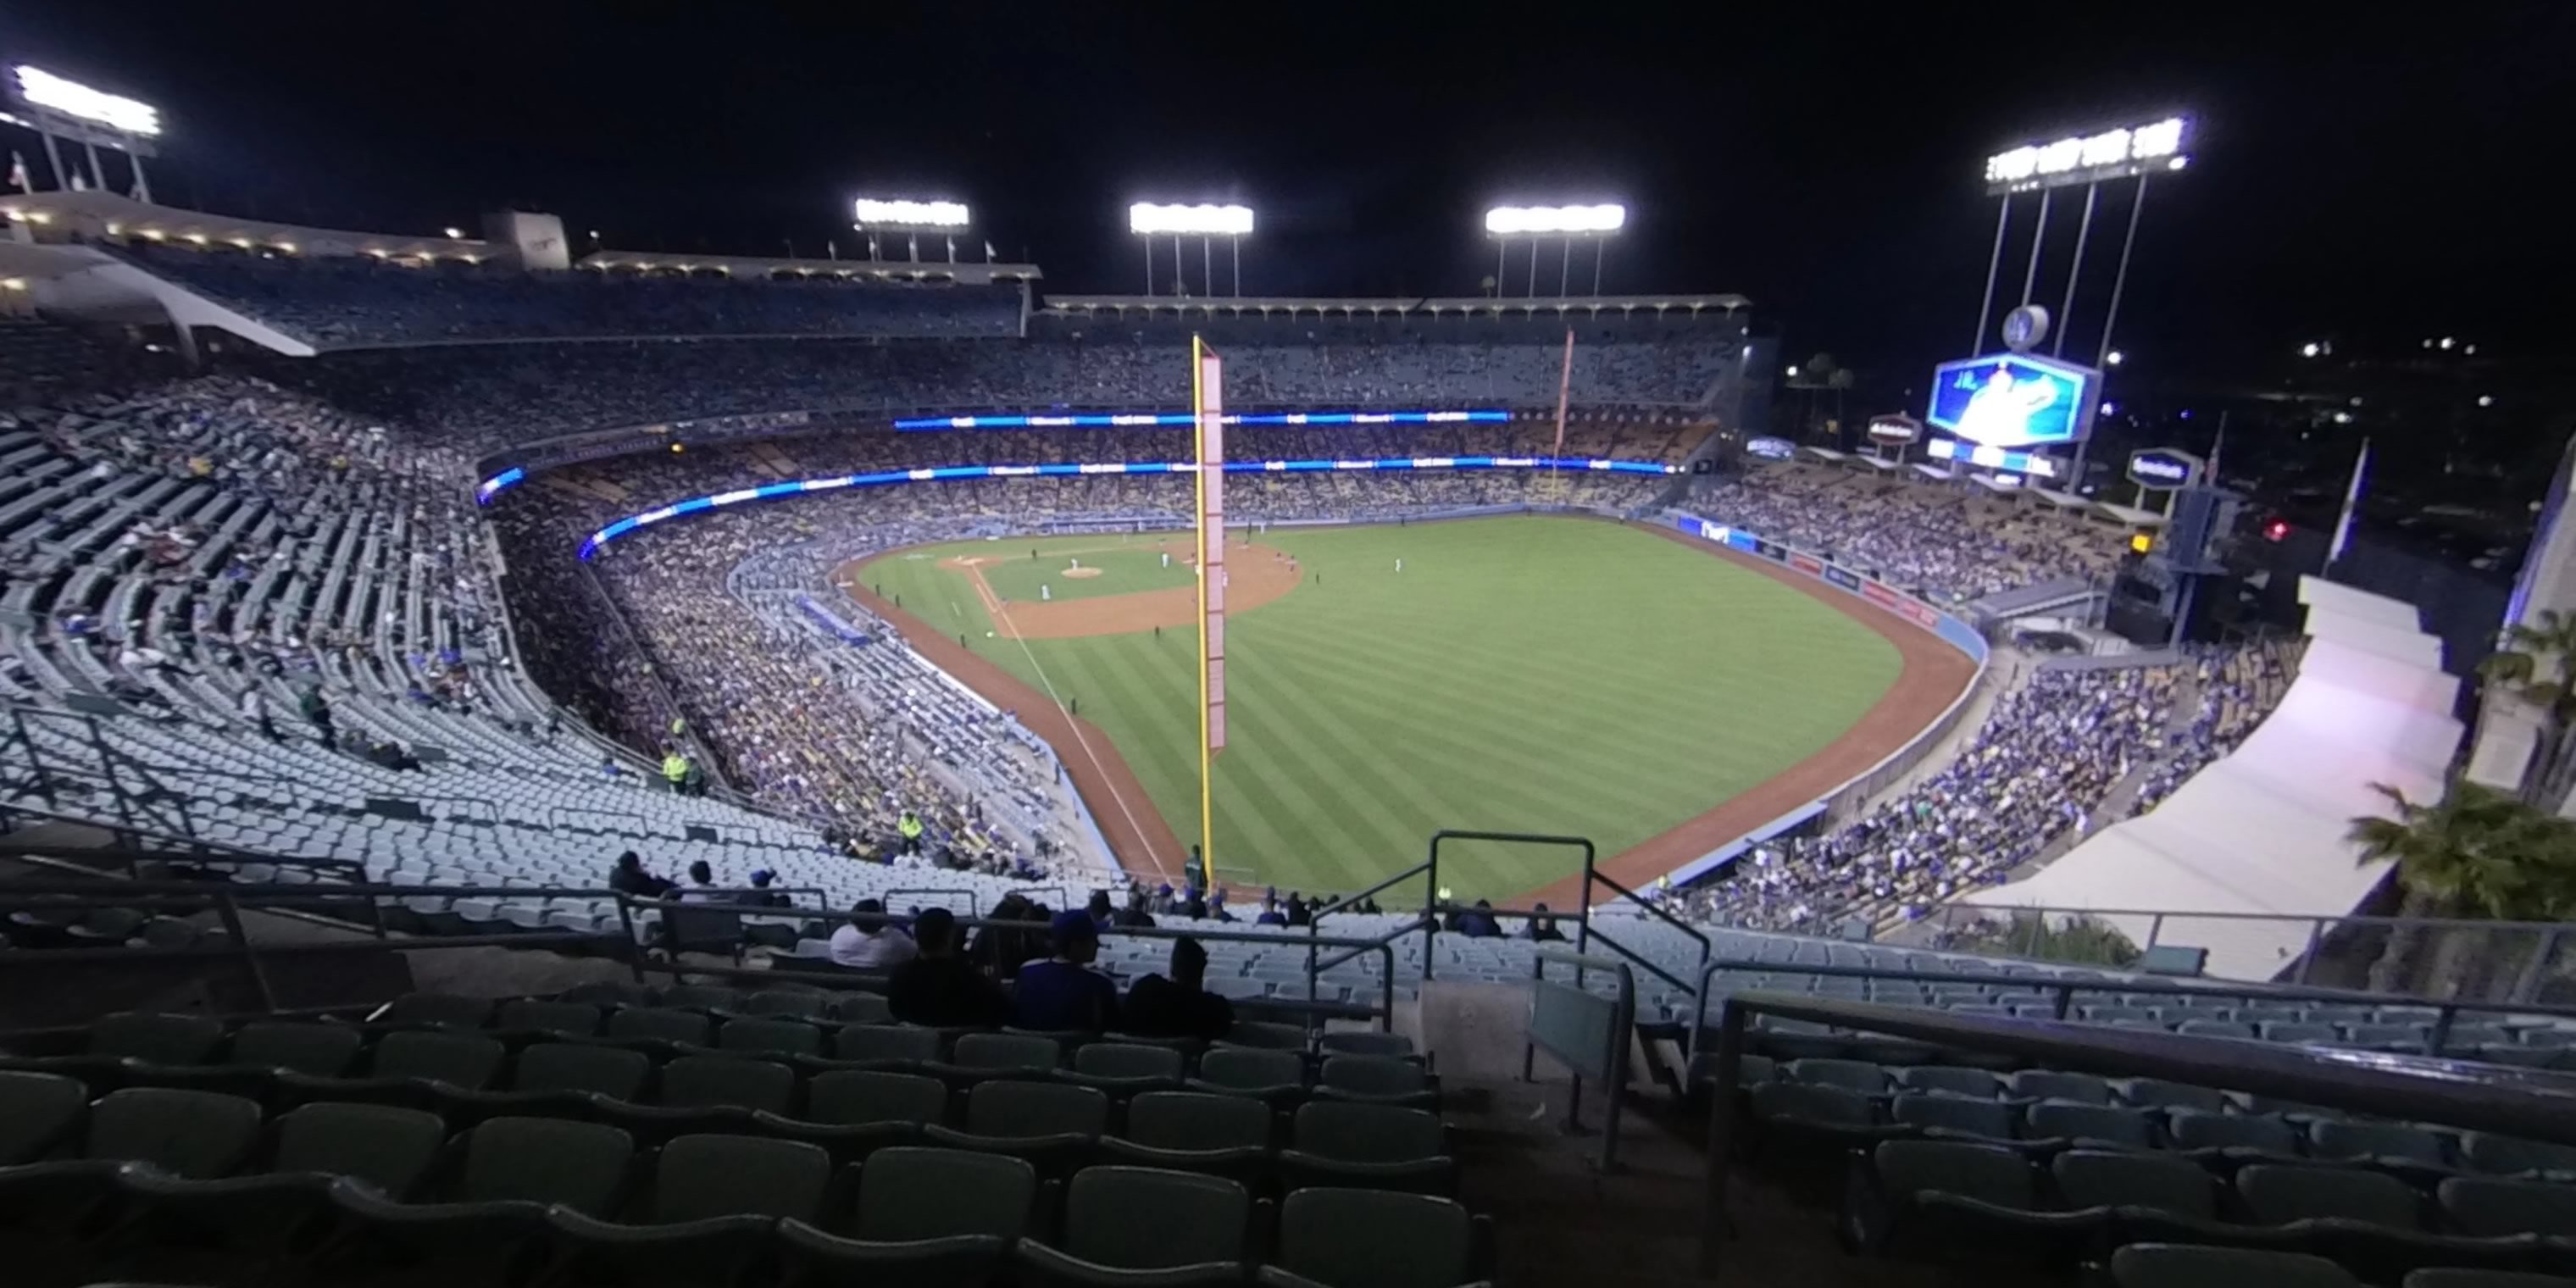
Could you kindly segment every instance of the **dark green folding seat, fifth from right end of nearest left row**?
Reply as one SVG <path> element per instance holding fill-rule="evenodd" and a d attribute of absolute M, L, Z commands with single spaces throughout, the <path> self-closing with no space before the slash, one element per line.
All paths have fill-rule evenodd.
<path fill-rule="evenodd" d="M 384 1270 L 394 1257 L 438 1265 L 456 1280 L 515 1278 L 531 1270 L 526 1262 L 549 1229 L 549 1208 L 616 1211 L 631 1164 L 634 1139 L 613 1126 L 489 1118 L 464 1133 L 459 1164 L 433 1177 L 420 1200 L 404 1203 L 374 1185 L 332 1185 L 340 1234 L 319 1252 L 314 1275 L 332 1283 L 335 1273 Z"/>

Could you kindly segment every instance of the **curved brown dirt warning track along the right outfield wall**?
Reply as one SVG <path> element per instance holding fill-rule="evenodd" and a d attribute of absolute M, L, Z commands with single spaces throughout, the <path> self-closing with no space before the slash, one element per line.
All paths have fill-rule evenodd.
<path fill-rule="evenodd" d="M 1643 842 L 1600 860 L 1597 871 L 1610 873 L 1613 881 L 1633 891 L 1643 891 L 1656 876 L 1664 876 L 1710 850 L 1726 848 L 1780 814 L 1788 814 L 1839 788 L 1842 783 L 1860 778 L 1891 752 L 1911 742 L 1914 734 L 1922 734 L 1924 726 L 1937 721 L 1940 714 L 1947 711 L 1950 703 L 1958 701 L 1958 696 L 1976 680 L 1976 662 L 1950 644 L 1942 644 L 1932 636 L 1932 631 L 1924 631 L 1886 608 L 1834 590 L 1803 572 L 1790 572 L 1788 567 L 1757 554 L 1700 541 L 1698 536 L 1687 536 L 1677 528 L 1664 528 L 1659 523 L 1631 523 L 1631 528 L 1651 531 L 1667 541 L 1680 541 L 1690 549 L 1708 551 L 1741 569 L 1759 572 L 1780 585 L 1795 587 L 1803 595 L 1821 600 L 1852 621 L 1878 631 L 1888 644 L 1896 644 L 1896 654 L 1904 657 L 1904 670 L 1896 675 L 1896 683 L 1888 685 L 1888 693 L 1880 696 L 1857 724 L 1844 729 L 1842 737 L 1829 742 L 1821 752 L 1772 778 L 1765 778 L 1752 791 L 1736 793 L 1708 814 L 1687 819 L 1680 827 L 1646 837 Z M 1759 732 L 1754 732 L 1754 737 L 1759 737 Z M 1600 891 L 1595 891 L 1595 896 Z M 1528 907 L 1530 902 L 1577 907 L 1582 902 L 1582 876 L 1577 873 L 1546 889 L 1535 889 L 1515 899 L 1512 907 Z"/>

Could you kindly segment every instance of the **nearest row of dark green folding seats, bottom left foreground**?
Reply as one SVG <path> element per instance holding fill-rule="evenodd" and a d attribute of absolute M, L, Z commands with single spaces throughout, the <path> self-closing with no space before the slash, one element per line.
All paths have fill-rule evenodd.
<path fill-rule="evenodd" d="M 18 1074 L 26 1077 L 26 1074 Z M 453 1131 L 397 1105 L 314 1103 L 263 1121 L 252 1100 L 131 1087 L 52 1095 L 67 1157 L 0 1167 L 0 1224 L 113 1231 L 111 1255 L 219 1247 L 322 1275 L 350 1267 L 544 1267 L 554 1275 L 732 1283 L 1273 1283 L 1448 1288 L 1481 1234 L 1448 1198 L 1291 1188 L 1275 1218 L 1242 1182 L 1090 1164 L 1061 1185 L 1025 1159 L 889 1146 L 858 1164 L 811 1144 L 500 1115 Z M 13 1087 L 15 1090 L 15 1087 Z M 18 1095 L 23 1105 L 36 1095 Z M 26 1110 L 0 1115 L 26 1128 Z"/>

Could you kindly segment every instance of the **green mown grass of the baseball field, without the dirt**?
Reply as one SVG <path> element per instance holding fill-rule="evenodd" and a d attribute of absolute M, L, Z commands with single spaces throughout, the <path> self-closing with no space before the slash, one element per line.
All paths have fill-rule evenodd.
<path fill-rule="evenodd" d="M 1229 629 L 1216 863 L 1283 891 L 1368 886 L 1419 863 L 1440 827 L 1569 832 L 1613 855 L 1824 750 L 1901 670 L 1893 644 L 1811 595 L 1615 523 L 1525 515 L 1257 541 L 1296 554 L 1309 580 Z M 1154 809 L 1198 837 L 1195 634 L 984 639 L 974 587 L 938 567 L 951 554 L 1028 564 L 1030 546 L 1064 567 L 1061 551 L 1115 544 L 930 546 L 868 564 L 866 582 L 1079 698 Z M 1502 899 L 1571 871 L 1564 850 L 1443 850 L 1458 896 Z"/>

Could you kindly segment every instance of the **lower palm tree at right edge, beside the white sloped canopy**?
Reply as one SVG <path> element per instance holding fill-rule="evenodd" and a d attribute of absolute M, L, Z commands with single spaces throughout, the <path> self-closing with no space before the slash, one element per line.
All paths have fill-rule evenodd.
<path fill-rule="evenodd" d="M 2576 822 L 2535 809 L 2530 801 L 2455 778 L 2434 804 L 2409 801 L 2388 783 L 2370 783 L 2388 799 L 2396 817 L 2357 817 L 2347 837 L 2362 848 L 2360 863 L 2396 863 L 2406 891 L 2401 917 L 2491 917 L 2512 922 L 2561 920 L 2576 909 Z M 2445 940 L 2434 976 L 2442 994 L 2458 994 L 2468 956 L 2481 958 L 2494 976 L 2499 953 L 2452 935 Z M 2398 927 L 2370 963 L 2375 992 L 2398 992 L 2421 943 L 2419 930 Z"/>

